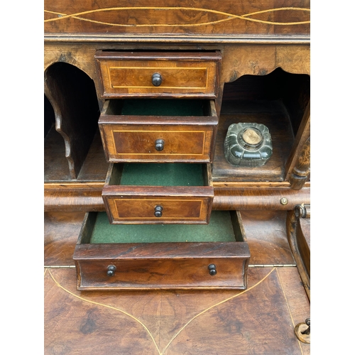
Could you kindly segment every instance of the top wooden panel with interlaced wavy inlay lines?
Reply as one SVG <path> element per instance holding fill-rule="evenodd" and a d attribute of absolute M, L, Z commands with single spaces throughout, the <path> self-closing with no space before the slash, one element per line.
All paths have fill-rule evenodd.
<path fill-rule="evenodd" d="M 310 34 L 309 0 L 46 0 L 44 10 L 46 34 Z"/>

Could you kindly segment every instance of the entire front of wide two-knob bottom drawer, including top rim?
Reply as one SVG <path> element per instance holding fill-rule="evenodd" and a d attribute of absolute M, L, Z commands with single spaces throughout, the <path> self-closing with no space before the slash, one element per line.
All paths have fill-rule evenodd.
<path fill-rule="evenodd" d="M 80 290 L 245 289 L 250 250 L 246 241 L 141 244 L 78 241 L 73 258 Z"/>

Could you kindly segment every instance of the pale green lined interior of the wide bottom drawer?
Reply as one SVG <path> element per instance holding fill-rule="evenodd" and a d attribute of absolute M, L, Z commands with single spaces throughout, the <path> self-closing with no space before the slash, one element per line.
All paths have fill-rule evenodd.
<path fill-rule="evenodd" d="M 229 211 L 212 211 L 209 224 L 109 224 L 98 212 L 91 244 L 236 241 Z"/>

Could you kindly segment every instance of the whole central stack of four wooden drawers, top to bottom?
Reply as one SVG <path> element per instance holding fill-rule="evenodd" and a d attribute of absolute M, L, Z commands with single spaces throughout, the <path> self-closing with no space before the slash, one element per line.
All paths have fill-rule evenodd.
<path fill-rule="evenodd" d="M 246 288 L 240 215 L 212 212 L 221 54 L 95 58 L 107 99 L 99 118 L 107 216 L 85 218 L 78 289 Z"/>

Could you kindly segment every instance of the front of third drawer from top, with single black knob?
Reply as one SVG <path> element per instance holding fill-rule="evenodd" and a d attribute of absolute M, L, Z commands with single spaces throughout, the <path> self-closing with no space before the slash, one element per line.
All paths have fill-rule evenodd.
<path fill-rule="evenodd" d="M 111 224 L 207 224 L 213 187 L 104 186 Z"/>

